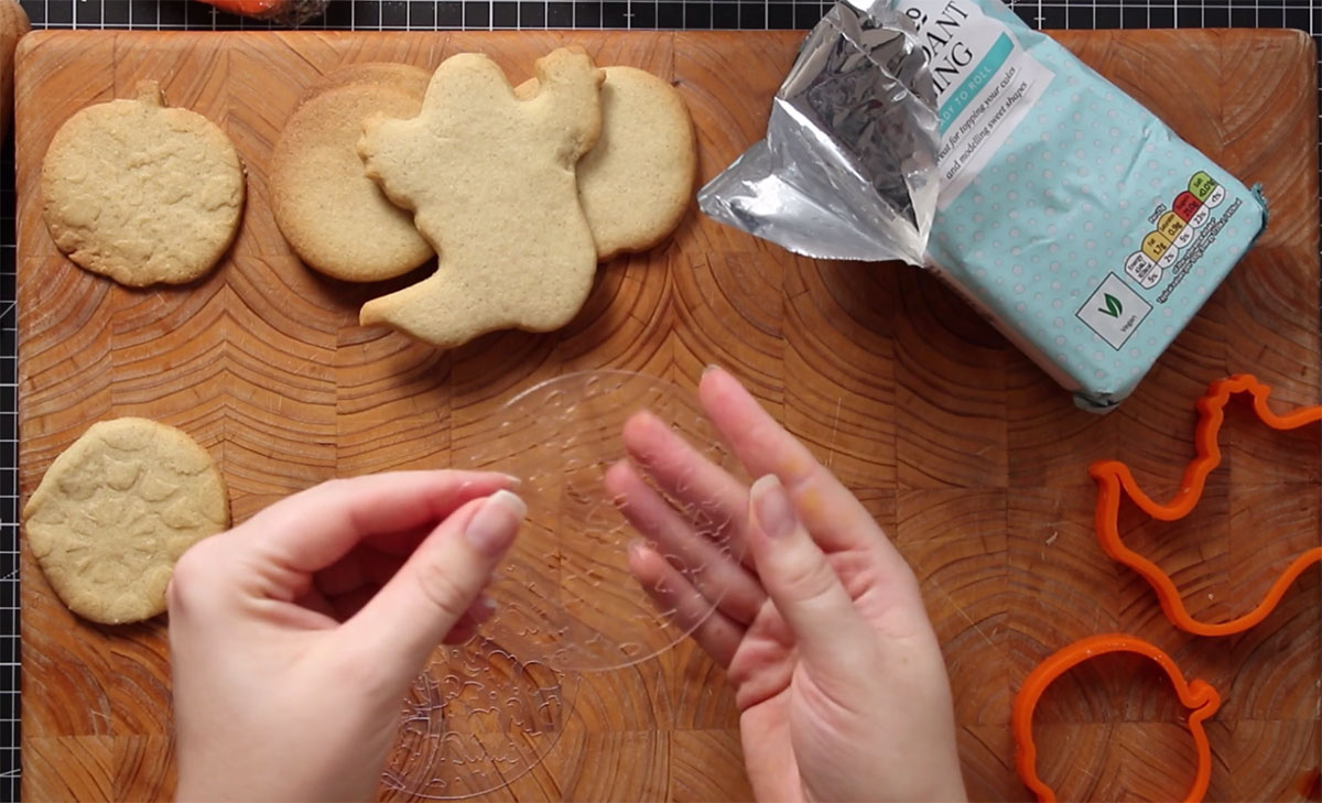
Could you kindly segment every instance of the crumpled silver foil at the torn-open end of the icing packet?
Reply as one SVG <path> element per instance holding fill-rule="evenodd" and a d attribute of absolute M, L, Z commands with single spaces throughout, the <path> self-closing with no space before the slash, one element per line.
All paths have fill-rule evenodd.
<path fill-rule="evenodd" d="M 939 141 L 936 90 L 908 17 L 886 0 L 841 0 L 776 92 L 767 139 L 698 205 L 805 256 L 921 265 Z"/>

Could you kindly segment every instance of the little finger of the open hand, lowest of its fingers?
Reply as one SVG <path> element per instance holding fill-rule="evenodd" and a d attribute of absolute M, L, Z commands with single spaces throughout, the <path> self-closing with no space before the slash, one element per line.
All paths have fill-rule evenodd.
<path fill-rule="evenodd" d="M 707 655 L 722 667 L 728 667 L 744 627 L 719 610 L 711 610 L 698 589 L 674 571 L 665 557 L 642 543 L 629 544 L 629 572 L 652 598 L 653 605 L 669 613 L 677 627 L 687 630 Z"/>

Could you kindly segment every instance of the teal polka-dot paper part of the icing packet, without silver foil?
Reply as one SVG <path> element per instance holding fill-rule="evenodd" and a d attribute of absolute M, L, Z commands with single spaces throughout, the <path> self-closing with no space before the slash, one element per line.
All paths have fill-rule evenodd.
<path fill-rule="evenodd" d="M 1079 405 L 1128 396 L 1266 206 L 994 0 L 898 0 L 937 94 L 928 267 Z"/>

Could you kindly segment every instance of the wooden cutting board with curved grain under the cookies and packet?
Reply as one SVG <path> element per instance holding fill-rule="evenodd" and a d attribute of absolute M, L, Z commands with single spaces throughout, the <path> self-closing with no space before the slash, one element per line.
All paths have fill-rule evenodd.
<path fill-rule="evenodd" d="M 493 334 L 451 353 L 356 324 L 373 293 L 295 258 L 268 205 L 271 145 L 303 88 L 346 62 L 432 67 L 464 50 L 514 82 L 563 42 L 672 79 L 693 111 L 707 180 L 761 136 L 798 33 L 71 33 L 19 55 L 21 491 L 93 421 L 139 415 L 219 460 L 242 520 L 337 477 L 446 465 L 465 425 L 534 380 L 648 371 L 683 387 L 702 366 L 742 376 L 869 505 L 923 582 L 951 667 L 970 794 L 1023 799 L 1010 700 L 1043 656 L 1129 631 L 1169 650 L 1225 704 L 1211 724 L 1208 799 L 1317 799 L 1322 592 L 1317 571 L 1255 630 L 1195 639 L 1147 585 L 1110 564 L 1084 469 L 1134 466 L 1174 491 L 1192 402 L 1253 371 L 1281 404 L 1317 403 L 1314 52 L 1292 32 L 1099 32 L 1059 38 L 1244 182 L 1270 227 L 1118 411 L 1097 417 L 931 276 L 792 256 L 690 214 L 673 242 L 604 265 L 583 313 L 550 335 Z M 160 79 L 219 123 L 249 172 L 230 258 L 186 288 L 128 291 L 61 258 L 41 221 L 41 156 L 75 110 Z M 1225 466 L 1178 524 L 1126 520 L 1195 614 L 1252 608 L 1319 541 L 1318 432 L 1264 432 L 1233 405 Z M 24 795 L 165 799 L 173 788 L 164 623 L 70 615 L 22 553 Z M 493 798 L 746 799 L 738 715 L 720 672 L 683 645 L 584 679 L 547 759 Z M 329 704 L 330 701 L 328 701 Z M 1192 750 L 1178 703 L 1140 662 L 1101 660 L 1052 688 L 1042 774 L 1064 798 L 1182 795 Z M 884 726 L 886 712 L 876 712 Z"/>

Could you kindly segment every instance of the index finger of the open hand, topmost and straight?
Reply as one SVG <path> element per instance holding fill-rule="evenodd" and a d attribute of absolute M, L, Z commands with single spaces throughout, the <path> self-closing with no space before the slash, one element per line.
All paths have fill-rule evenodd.
<path fill-rule="evenodd" d="M 906 565 L 867 508 L 785 432 L 727 371 L 709 367 L 698 384 L 702 407 L 754 477 L 775 474 L 798 515 L 826 551 L 880 551 Z"/>

